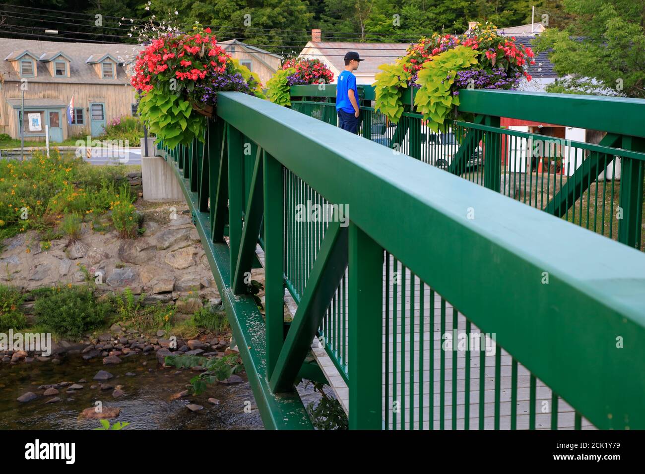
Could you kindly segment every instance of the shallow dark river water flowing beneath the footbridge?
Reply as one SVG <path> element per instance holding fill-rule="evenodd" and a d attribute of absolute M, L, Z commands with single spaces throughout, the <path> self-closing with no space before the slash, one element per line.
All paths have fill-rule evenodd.
<path fill-rule="evenodd" d="M 92 380 L 99 370 L 106 370 L 114 378 L 106 380 L 114 387 L 123 385 L 125 395 L 115 399 L 113 390 L 101 391 L 99 381 Z M 126 372 L 136 375 L 126 376 Z M 94 407 L 100 400 L 103 406 L 121 408 L 119 417 L 111 422 L 130 422 L 126 429 L 159 430 L 229 430 L 262 429 L 263 424 L 253 399 L 252 390 L 245 380 L 239 384 L 215 383 L 201 395 L 170 400 L 170 397 L 186 389 L 188 381 L 197 373 L 190 370 L 164 368 L 157 364 L 154 355 L 128 357 L 118 365 L 104 366 L 101 359 L 83 360 L 70 355 L 62 364 L 30 362 L 0 366 L 0 429 L 10 430 L 86 430 L 96 428 L 97 420 L 79 418 L 85 408 Z M 59 388 L 61 401 L 46 404 L 53 397 L 43 397 L 44 389 L 38 386 L 59 382 L 78 382 L 83 389 L 73 394 L 67 388 Z M 96 385 L 97 388 L 90 388 Z M 39 397 L 21 403 L 16 399 L 31 391 Z M 220 400 L 212 405 L 208 399 Z M 192 412 L 189 403 L 199 404 L 204 410 Z"/>

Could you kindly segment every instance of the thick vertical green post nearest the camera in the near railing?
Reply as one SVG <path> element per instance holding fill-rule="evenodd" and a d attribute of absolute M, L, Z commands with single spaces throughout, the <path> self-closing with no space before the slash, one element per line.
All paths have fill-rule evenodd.
<path fill-rule="evenodd" d="M 350 430 L 381 430 L 383 249 L 353 222 L 348 271 Z"/>

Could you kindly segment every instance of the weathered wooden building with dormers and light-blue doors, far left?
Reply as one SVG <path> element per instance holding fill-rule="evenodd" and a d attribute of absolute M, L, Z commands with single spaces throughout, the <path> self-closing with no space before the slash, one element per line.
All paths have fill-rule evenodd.
<path fill-rule="evenodd" d="M 115 117 L 133 115 L 135 91 L 125 64 L 139 46 L 64 43 L 2 38 L 0 41 L 0 133 L 50 141 L 99 137 Z M 74 96 L 72 124 L 67 108 Z"/>

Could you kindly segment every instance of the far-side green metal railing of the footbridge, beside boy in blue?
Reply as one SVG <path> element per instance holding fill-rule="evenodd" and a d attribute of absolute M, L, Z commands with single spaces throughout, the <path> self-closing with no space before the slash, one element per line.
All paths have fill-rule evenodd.
<path fill-rule="evenodd" d="M 645 251 L 644 101 L 491 90 L 460 94 L 459 110 L 475 118 L 449 121 L 448 133 L 435 133 L 411 112 L 409 94 L 399 123 L 387 123 L 369 105 L 373 86 L 362 86 L 359 134 Z M 324 90 L 293 86 L 292 96 L 293 110 L 337 124 L 333 84 Z M 500 117 L 607 133 L 599 144 L 584 143 L 501 128 Z"/>

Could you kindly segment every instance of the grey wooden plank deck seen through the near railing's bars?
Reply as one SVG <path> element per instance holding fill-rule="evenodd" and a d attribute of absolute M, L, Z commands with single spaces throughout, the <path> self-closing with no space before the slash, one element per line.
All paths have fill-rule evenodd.
<path fill-rule="evenodd" d="M 264 252 L 257 246 L 257 255 L 260 262 L 264 265 Z M 401 268 L 399 266 L 399 268 Z M 393 257 L 390 255 L 390 272 L 393 269 Z M 262 270 L 260 270 L 262 272 Z M 347 275 L 346 275 L 347 277 Z M 403 281 L 402 274 L 400 276 Z M 385 270 L 383 273 L 383 281 L 386 281 Z M 386 317 L 385 317 L 385 297 L 383 298 L 383 410 L 385 413 L 386 407 L 390 409 L 388 414 L 388 428 L 390 430 L 396 429 L 410 429 L 410 416 L 413 417 L 413 428 L 419 428 L 419 420 L 422 416 L 422 428 L 424 430 L 430 429 L 430 409 L 432 407 L 432 420 L 433 429 L 440 428 L 440 413 L 441 413 L 441 297 L 435 293 L 434 308 L 433 308 L 433 328 L 430 328 L 430 288 L 423 285 L 423 308 L 421 313 L 419 310 L 419 301 L 421 298 L 421 285 L 419 279 L 415 280 L 414 291 L 414 311 L 413 319 L 410 315 L 411 299 L 410 293 L 410 271 L 406 270 L 404 278 L 405 285 L 405 322 L 403 325 L 404 339 L 401 337 L 401 285 L 397 285 L 397 336 L 396 340 L 393 337 L 394 329 L 392 321 L 390 320 L 390 328 L 388 330 L 389 342 L 386 345 Z M 388 291 L 389 297 L 389 314 L 390 318 L 393 312 L 393 291 L 394 285 L 392 278 L 384 291 Z M 295 315 L 297 304 L 293 300 L 288 291 L 284 291 L 284 301 L 286 310 L 290 315 Z M 450 303 L 446 302 L 445 305 L 445 331 L 451 332 L 453 330 L 453 317 L 456 311 L 453 310 Z M 346 308 L 348 311 L 348 308 Z M 421 335 L 421 318 L 423 319 L 423 333 Z M 412 325 L 412 326 L 411 326 Z M 411 329 L 413 337 L 413 344 L 411 342 Z M 466 330 L 466 319 L 464 315 L 459 314 L 457 317 L 457 333 L 462 333 Z M 471 324 L 471 333 L 477 333 L 479 329 Z M 345 341 L 348 341 L 348 334 L 346 333 Z M 420 357 L 421 339 L 423 341 L 422 359 Z M 401 342 L 404 341 L 404 359 L 401 360 Z M 430 348 L 432 341 L 432 351 Z M 394 342 L 397 347 L 397 362 L 394 367 Z M 413 350 L 410 348 L 413 345 Z M 455 343 L 456 345 L 456 343 Z M 386 347 L 389 347 L 389 354 L 386 355 Z M 347 348 L 343 348 L 342 352 L 347 353 Z M 499 350 L 499 348 L 497 348 Z M 549 348 L 544 348 L 549 350 Z M 349 413 L 349 389 L 344 379 L 341 377 L 336 366 L 333 364 L 331 357 L 327 351 L 321 346 L 317 339 L 312 341 L 312 353 L 317 360 L 319 366 L 327 380 L 330 382 L 335 396 L 341 402 L 342 408 Z M 432 377 L 430 377 L 430 354 L 432 353 Z M 386 357 L 388 359 L 389 373 L 388 377 L 388 397 L 386 399 Z M 457 361 L 457 430 L 464 429 L 464 413 L 465 413 L 465 386 L 466 386 L 466 351 L 464 350 L 446 350 L 444 351 L 444 429 L 450 430 L 453 428 L 452 422 L 452 388 L 453 388 L 453 357 Z M 423 362 L 423 370 L 419 370 L 420 361 Z M 402 365 L 403 364 L 403 365 Z M 410 367 L 413 368 L 413 384 L 410 384 Z M 501 350 L 501 367 L 500 367 L 500 395 L 499 395 L 499 411 L 501 430 L 509 430 L 511 428 L 511 356 L 504 350 Z M 479 399 L 480 399 L 480 370 L 481 370 L 481 356 L 479 350 L 470 351 L 470 416 L 469 424 L 470 430 L 479 429 Z M 351 370 L 351 362 L 349 362 Z M 402 370 L 402 367 L 404 370 Z M 396 384 L 393 383 L 393 373 L 396 371 Z M 495 427 L 495 355 L 490 353 L 484 357 L 484 429 L 492 430 Z M 401 383 L 401 376 L 404 384 Z M 350 373 L 351 377 L 351 373 Z M 431 382 L 432 379 L 432 382 Z M 422 380 L 422 384 L 420 381 Z M 410 387 L 413 387 L 413 397 L 410 398 Z M 419 391 L 422 387 L 422 396 L 419 397 Z M 432 402 L 430 400 L 430 393 L 432 393 Z M 551 389 L 548 388 L 541 380 L 536 380 L 535 392 L 535 429 L 549 430 L 551 429 Z M 399 411 L 395 413 L 394 401 L 399 403 Z M 410 413 L 410 403 L 412 400 L 413 410 Z M 521 364 L 517 364 L 517 429 L 527 430 L 529 428 L 529 413 L 530 413 L 530 373 Z M 575 411 L 564 400 L 558 400 L 558 429 L 573 430 Z M 396 420 L 394 426 L 393 420 Z M 403 422 L 401 422 L 403 419 Z M 586 419 L 582 419 L 581 427 L 583 430 L 594 430 L 595 427 Z"/>

